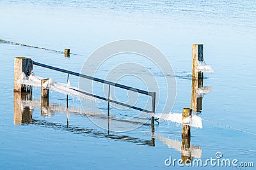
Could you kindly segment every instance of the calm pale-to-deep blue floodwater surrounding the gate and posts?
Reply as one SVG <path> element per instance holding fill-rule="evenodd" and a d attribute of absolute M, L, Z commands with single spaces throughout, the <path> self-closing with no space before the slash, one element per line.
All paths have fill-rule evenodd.
<path fill-rule="evenodd" d="M 191 128 L 192 157 L 205 161 L 216 159 L 216 152 L 221 152 L 221 159 L 253 162 L 255 168 L 255 9 L 255 1 L 1 1 L 0 39 L 52 50 L 70 48 L 72 54 L 65 58 L 63 53 L 0 42 L 0 169 L 189 168 L 177 162 L 175 167 L 164 164 L 169 157 L 182 157 L 181 126 L 173 122 L 156 122 L 154 133 L 150 120 L 132 131 L 108 131 L 108 126 L 118 126 L 116 122 L 138 111 L 111 106 L 111 118 L 119 120 L 97 118 L 106 123 L 106 129 L 102 129 L 81 111 L 76 97 L 68 96 L 68 111 L 67 95 L 50 92 L 50 111 L 45 113 L 40 89 L 33 89 L 32 96 L 13 93 L 15 57 L 31 57 L 79 72 L 90 53 L 118 39 L 140 39 L 166 55 L 176 78 L 172 113 L 182 113 L 182 108 L 191 105 L 191 45 L 203 43 L 205 62 L 214 73 L 204 74 L 204 85 L 212 90 L 201 98 L 198 116 L 203 128 Z M 97 77 L 104 78 L 119 59 L 122 57 L 103 64 Z M 129 59 L 134 62 L 134 56 Z M 164 90 L 160 73 L 150 66 L 147 68 Z M 67 82 L 67 74 L 38 66 L 34 71 L 37 76 Z M 124 78 L 120 83 L 147 90 L 144 83 L 135 80 Z M 77 83 L 78 79 L 70 76 L 70 84 L 77 87 Z M 162 107 L 159 100 L 156 113 Z M 97 109 L 90 103 L 87 113 L 95 116 Z M 106 112 L 106 103 L 101 102 L 99 107 Z M 22 117 L 15 115 L 19 110 L 24 112 Z M 136 124 L 123 123 L 125 127 Z M 193 169 L 253 167 L 209 164 Z"/>

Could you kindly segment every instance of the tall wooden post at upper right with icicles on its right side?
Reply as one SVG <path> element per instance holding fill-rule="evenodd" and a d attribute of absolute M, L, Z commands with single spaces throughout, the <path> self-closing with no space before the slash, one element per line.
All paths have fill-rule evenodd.
<path fill-rule="evenodd" d="M 204 61 L 204 50 L 202 44 L 192 45 L 192 78 L 202 79 L 204 78 L 204 73 L 198 72 L 196 69 L 198 67 L 198 61 Z"/>

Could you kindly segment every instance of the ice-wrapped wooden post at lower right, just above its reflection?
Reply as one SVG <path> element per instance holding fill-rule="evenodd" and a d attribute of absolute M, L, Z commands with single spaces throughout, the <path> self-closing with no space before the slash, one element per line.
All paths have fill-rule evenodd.
<path fill-rule="evenodd" d="M 184 108 L 182 112 L 182 136 L 190 136 L 190 121 L 188 121 L 191 118 L 191 109 L 190 108 Z"/>

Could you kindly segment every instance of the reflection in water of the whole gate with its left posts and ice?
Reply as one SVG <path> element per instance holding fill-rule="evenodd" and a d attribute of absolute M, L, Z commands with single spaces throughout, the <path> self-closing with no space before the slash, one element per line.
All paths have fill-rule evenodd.
<path fill-rule="evenodd" d="M 13 122 L 17 125 L 22 124 L 33 124 L 40 125 L 40 127 L 48 127 L 52 129 L 58 129 L 61 131 L 68 131 L 74 133 L 81 134 L 90 134 L 95 138 L 107 138 L 107 139 L 116 139 L 119 141 L 127 141 L 131 143 L 137 143 L 138 145 L 147 145 L 147 146 L 155 146 L 154 140 L 154 131 L 151 131 L 151 140 L 147 139 L 139 139 L 130 136 L 122 136 L 116 134 L 109 134 L 109 127 L 116 122 L 120 122 L 122 124 L 140 124 L 140 122 L 131 122 L 129 120 L 120 120 L 115 117 L 106 116 L 100 113 L 93 112 L 82 112 L 80 109 L 62 106 L 60 104 L 49 103 L 49 99 L 41 98 L 41 101 L 32 100 L 32 92 L 13 92 L 14 94 L 14 111 L 13 111 Z M 41 110 L 41 116 L 43 117 L 52 117 L 55 112 L 65 113 L 67 114 L 67 124 L 60 124 L 56 122 L 47 122 L 46 120 L 36 120 L 32 118 L 34 109 Z M 97 131 L 97 129 L 88 129 L 83 127 L 77 127 L 75 125 L 68 125 L 68 117 L 70 113 L 84 115 L 87 117 L 97 118 L 100 121 L 106 121 L 106 125 L 108 126 L 108 133 Z M 141 123 L 143 124 L 143 123 Z M 143 124 L 143 126 L 150 126 L 151 124 Z M 154 125 L 154 124 L 153 124 Z M 154 129 L 152 127 L 151 129 Z"/>

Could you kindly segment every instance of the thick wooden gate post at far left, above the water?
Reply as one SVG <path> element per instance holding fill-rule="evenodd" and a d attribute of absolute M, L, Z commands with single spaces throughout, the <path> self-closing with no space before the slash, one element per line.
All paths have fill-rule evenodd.
<path fill-rule="evenodd" d="M 29 76 L 33 70 L 32 60 L 26 57 L 15 57 L 14 60 L 14 87 L 13 90 L 16 92 L 32 92 L 30 85 L 22 85 L 18 82 L 22 73 Z"/>

